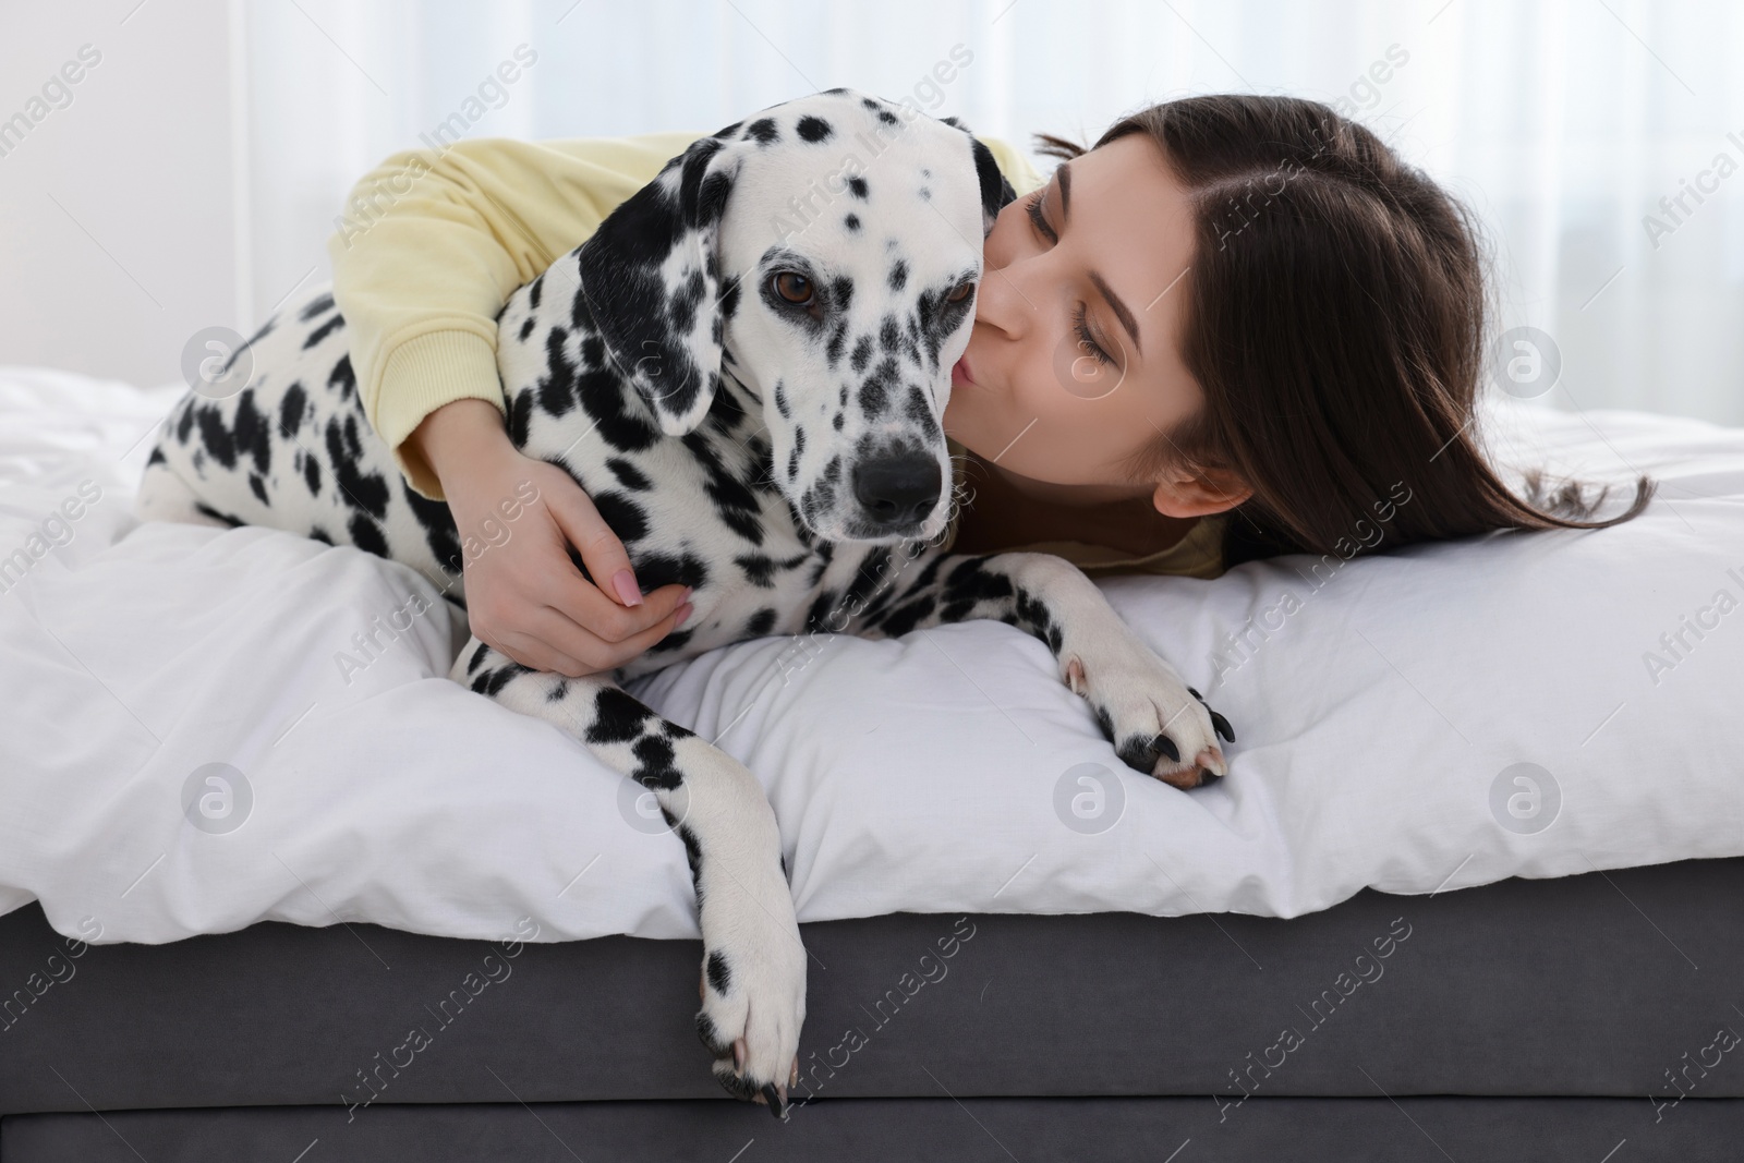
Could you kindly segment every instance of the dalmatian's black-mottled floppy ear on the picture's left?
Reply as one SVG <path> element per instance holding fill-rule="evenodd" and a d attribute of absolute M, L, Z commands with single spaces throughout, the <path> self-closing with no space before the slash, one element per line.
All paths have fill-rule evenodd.
<path fill-rule="evenodd" d="M 701 138 L 581 246 L 581 291 L 666 436 L 703 422 L 720 384 L 720 216 L 743 150 Z"/>

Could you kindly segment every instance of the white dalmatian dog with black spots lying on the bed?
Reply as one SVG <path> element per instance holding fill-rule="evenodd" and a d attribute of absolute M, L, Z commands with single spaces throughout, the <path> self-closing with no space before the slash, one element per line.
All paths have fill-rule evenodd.
<path fill-rule="evenodd" d="M 774 813 L 743 764 L 621 682 L 764 635 L 999 619 L 1046 643 L 1125 764 L 1182 788 L 1226 772 L 1228 722 L 1078 568 L 938 544 L 954 500 L 940 417 L 982 239 L 1012 199 L 956 119 L 830 89 L 691 145 L 497 319 L 514 445 L 586 490 L 644 586 L 692 586 L 694 614 L 610 673 L 534 671 L 474 636 L 450 677 L 652 790 L 696 888 L 698 1034 L 720 1083 L 778 1116 L 806 950 Z M 464 607 L 448 506 L 412 492 L 370 429 L 333 296 L 279 310 L 246 347 L 246 387 L 194 391 L 166 418 L 138 516 L 354 546 Z"/>

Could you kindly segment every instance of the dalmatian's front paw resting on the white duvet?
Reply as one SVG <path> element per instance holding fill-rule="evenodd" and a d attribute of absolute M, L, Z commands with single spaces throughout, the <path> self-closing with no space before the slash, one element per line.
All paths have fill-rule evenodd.
<path fill-rule="evenodd" d="M 1221 734 L 1235 743 L 1230 720 L 1160 657 L 1141 647 L 1085 663 L 1066 659 L 1066 685 L 1088 699 L 1102 734 L 1134 771 L 1177 788 L 1196 788 L 1230 774 Z"/>

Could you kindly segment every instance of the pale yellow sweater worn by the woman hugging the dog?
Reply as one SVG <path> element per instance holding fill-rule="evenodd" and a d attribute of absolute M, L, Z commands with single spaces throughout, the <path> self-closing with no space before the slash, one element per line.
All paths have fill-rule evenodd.
<path fill-rule="evenodd" d="M 441 500 L 441 485 L 406 436 L 455 399 L 506 411 L 497 375 L 497 312 L 520 286 L 581 246 L 619 202 L 703 133 L 633 138 L 471 138 L 401 150 L 352 188 L 328 239 L 333 298 L 351 335 L 363 408 L 406 483 Z M 1029 159 L 982 138 L 1012 188 L 1043 185 Z M 963 485 L 964 448 L 950 441 Z M 945 546 L 956 541 L 952 516 Z M 1175 546 L 1134 558 L 1104 546 L 1012 546 L 1055 553 L 1090 574 L 1216 577 L 1223 518 L 1202 518 Z"/>

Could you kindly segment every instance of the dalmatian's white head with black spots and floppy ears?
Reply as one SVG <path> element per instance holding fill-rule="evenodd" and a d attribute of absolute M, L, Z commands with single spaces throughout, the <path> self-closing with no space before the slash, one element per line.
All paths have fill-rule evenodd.
<path fill-rule="evenodd" d="M 956 119 L 830 89 L 671 159 L 582 244 L 582 291 L 668 436 L 731 373 L 814 535 L 930 539 L 950 504 L 950 368 L 1012 197 Z"/>

